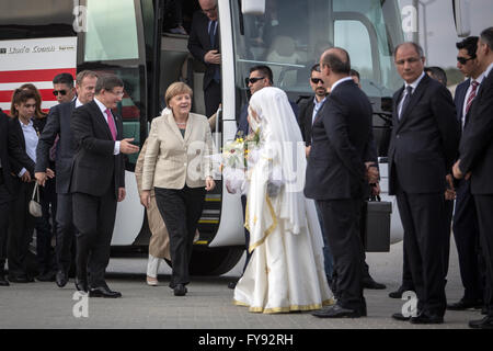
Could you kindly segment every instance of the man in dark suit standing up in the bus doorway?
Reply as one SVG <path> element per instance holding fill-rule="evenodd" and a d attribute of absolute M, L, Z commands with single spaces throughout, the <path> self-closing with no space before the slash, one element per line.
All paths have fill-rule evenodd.
<path fill-rule="evenodd" d="M 198 0 L 202 11 L 194 13 L 188 37 L 188 50 L 206 65 L 204 100 L 206 116 L 210 117 L 221 102 L 221 55 L 219 54 L 219 25 L 217 0 Z"/>

